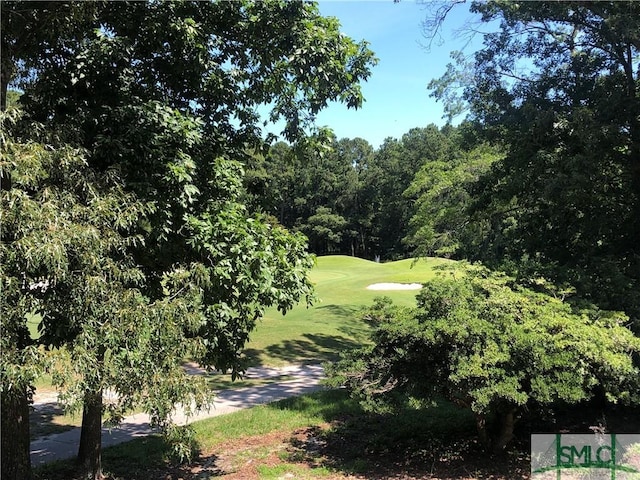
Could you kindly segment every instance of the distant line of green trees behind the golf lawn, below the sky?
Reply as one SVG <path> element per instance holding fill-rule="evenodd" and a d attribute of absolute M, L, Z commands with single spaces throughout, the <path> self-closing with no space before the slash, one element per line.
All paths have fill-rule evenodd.
<path fill-rule="evenodd" d="M 304 233 L 317 255 L 384 261 L 414 256 L 418 248 L 418 253 L 453 254 L 450 242 L 455 240 L 439 237 L 425 245 L 424 224 L 430 218 L 418 207 L 426 203 L 421 200 L 424 190 L 436 188 L 425 184 L 436 181 L 435 170 L 429 169 L 457 176 L 449 179 L 451 187 L 464 189 L 478 178 L 478 164 L 488 165 L 496 157 L 495 148 L 474 142 L 466 132 L 465 126 L 432 124 L 413 128 L 400 139 L 389 137 L 375 150 L 362 138 L 338 140 L 333 135 L 324 139 L 324 148 L 312 150 L 278 142 L 245 166 L 247 204 Z M 462 212 L 464 199 L 453 198 L 458 193 L 441 191 L 449 205 L 431 203 L 438 208 L 456 204 Z"/>

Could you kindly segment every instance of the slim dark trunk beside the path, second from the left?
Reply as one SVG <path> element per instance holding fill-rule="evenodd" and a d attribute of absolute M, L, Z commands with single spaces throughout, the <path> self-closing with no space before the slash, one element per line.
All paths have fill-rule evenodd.
<path fill-rule="evenodd" d="M 85 477 L 101 480 L 102 475 L 102 390 L 84 394 L 78 464 Z"/>

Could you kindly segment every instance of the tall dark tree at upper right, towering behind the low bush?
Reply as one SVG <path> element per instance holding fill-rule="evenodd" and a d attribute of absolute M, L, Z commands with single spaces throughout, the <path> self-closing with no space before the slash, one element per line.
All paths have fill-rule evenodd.
<path fill-rule="evenodd" d="M 638 8 L 474 3 L 472 11 L 500 28 L 484 36 L 462 93 L 485 138 L 507 145 L 474 202 L 492 225 L 475 258 L 525 259 L 523 276 L 573 284 L 603 308 L 636 319 Z M 447 92 L 435 91 L 442 99 Z"/>

